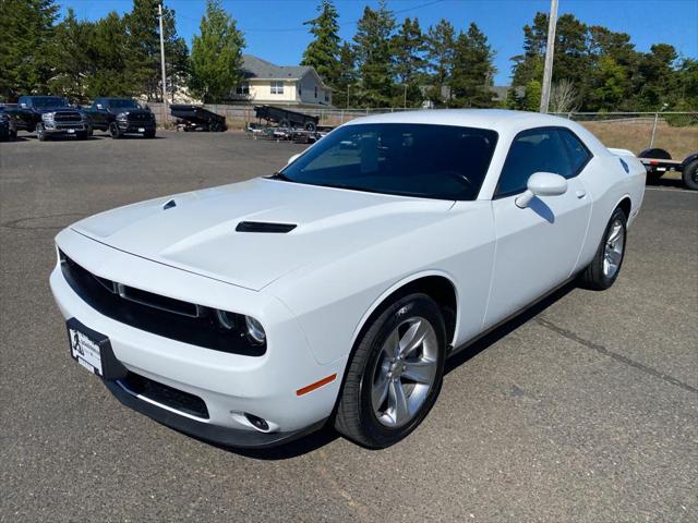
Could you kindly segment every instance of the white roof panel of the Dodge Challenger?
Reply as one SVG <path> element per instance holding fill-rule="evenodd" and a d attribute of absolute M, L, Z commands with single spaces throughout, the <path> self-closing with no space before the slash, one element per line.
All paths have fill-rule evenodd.
<path fill-rule="evenodd" d="M 429 123 L 497 131 L 512 124 L 521 127 L 540 127 L 546 125 L 568 126 L 568 122 L 567 119 L 550 114 L 506 109 L 423 109 L 363 117 L 348 123 Z"/>

